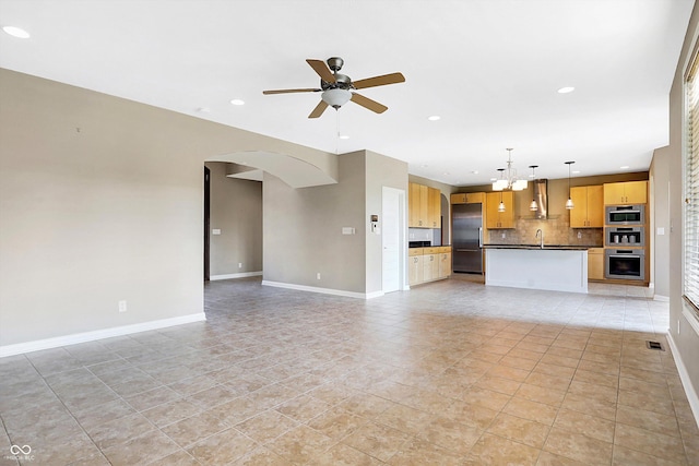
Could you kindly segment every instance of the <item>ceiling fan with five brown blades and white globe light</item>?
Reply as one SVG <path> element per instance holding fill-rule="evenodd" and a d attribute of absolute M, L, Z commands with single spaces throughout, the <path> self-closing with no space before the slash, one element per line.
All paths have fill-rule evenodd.
<path fill-rule="evenodd" d="M 322 60 L 308 59 L 306 61 L 320 76 L 320 88 L 263 91 L 262 94 L 316 93 L 322 91 L 320 103 L 313 111 L 310 112 L 308 118 L 320 117 L 328 106 L 337 110 L 345 105 L 347 100 L 352 100 L 377 113 L 383 113 L 388 110 L 387 106 L 352 91 L 405 82 L 405 76 L 401 73 L 383 74 L 381 76 L 367 77 L 366 80 L 353 82 L 350 76 L 339 73 L 344 64 L 344 60 L 340 57 L 329 58 L 327 60 L 328 64 Z"/>

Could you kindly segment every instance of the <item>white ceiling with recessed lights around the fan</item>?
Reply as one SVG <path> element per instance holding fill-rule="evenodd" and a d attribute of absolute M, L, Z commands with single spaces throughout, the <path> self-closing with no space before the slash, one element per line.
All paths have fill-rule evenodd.
<path fill-rule="evenodd" d="M 449 184 L 506 166 L 565 178 L 647 170 L 668 143 L 668 94 L 694 0 L 0 0 L 0 67 L 310 147 L 367 148 Z M 353 80 L 401 71 L 307 118 L 305 59 Z M 558 94 L 574 86 L 571 94 Z M 241 98 L 244 106 L 229 100 Z M 204 109 L 205 111 L 200 111 Z M 439 115 L 439 121 L 427 117 Z M 339 140 L 337 132 L 350 136 Z M 629 166 L 621 169 L 621 166 Z M 477 174 L 474 174 L 477 171 Z"/>

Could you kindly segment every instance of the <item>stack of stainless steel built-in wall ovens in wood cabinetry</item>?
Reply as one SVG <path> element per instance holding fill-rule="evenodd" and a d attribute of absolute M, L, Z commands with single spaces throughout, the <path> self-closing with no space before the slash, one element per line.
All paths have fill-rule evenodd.
<path fill-rule="evenodd" d="M 604 223 L 604 276 L 644 282 L 645 206 L 608 205 Z"/>

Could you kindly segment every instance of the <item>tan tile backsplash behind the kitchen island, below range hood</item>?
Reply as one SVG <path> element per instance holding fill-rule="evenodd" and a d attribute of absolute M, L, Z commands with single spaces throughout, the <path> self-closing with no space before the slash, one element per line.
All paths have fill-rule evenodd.
<path fill-rule="evenodd" d="M 514 222 L 514 229 L 487 230 L 488 242 L 490 244 L 536 244 L 538 243 L 536 230 L 541 228 L 545 244 L 582 244 L 602 248 L 604 240 L 602 228 L 570 228 L 567 217 L 568 215 L 541 220 L 520 217 Z"/>

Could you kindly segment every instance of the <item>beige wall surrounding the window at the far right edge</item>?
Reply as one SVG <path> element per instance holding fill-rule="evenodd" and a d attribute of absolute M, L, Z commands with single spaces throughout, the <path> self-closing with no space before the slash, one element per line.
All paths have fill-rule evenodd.
<path fill-rule="evenodd" d="M 684 122 L 684 82 L 683 76 L 687 61 L 691 55 L 694 38 L 699 34 L 699 11 L 695 7 L 689 27 L 685 36 L 677 69 L 670 93 L 670 146 L 667 147 L 667 172 L 670 182 L 670 334 L 678 350 L 675 359 L 684 365 L 688 381 L 694 389 L 685 384 L 685 390 L 691 390 L 697 399 L 699 390 L 699 335 L 691 328 L 687 318 L 683 314 L 683 122 Z M 656 206 L 664 208 L 664 205 Z M 694 319 L 694 318 L 691 318 Z M 679 327 L 679 331 L 678 331 Z M 691 396 L 691 395 L 690 395 Z M 699 406 L 694 406 L 695 416 L 699 419 Z"/>

